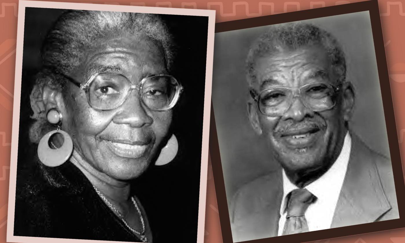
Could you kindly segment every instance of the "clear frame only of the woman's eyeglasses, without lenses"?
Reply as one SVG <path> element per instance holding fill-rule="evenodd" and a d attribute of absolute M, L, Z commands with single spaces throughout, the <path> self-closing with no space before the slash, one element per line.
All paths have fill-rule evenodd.
<path fill-rule="evenodd" d="M 172 109 L 172 108 L 177 104 L 177 102 L 179 101 L 180 95 L 181 95 L 181 93 L 182 93 L 183 90 L 184 90 L 183 85 L 181 85 L 181 83 L 180 83 L 175 77 L 173 77 L 172 75 L 166 75 L 166 74 L 157 74 L 157 75 L 151 75 L 151 76 L 148 76 L 148 77 L 144 77 L 144 78 L 141 79 L 141 81 L 140 81 L 139 83 L 137 83 L 137 84 L 132 84 L 131 81 L 130 81 L 126 76 L 124 76 L 124 75 L 122 75 L 122 74 L 114 74 L 114 73 L 107 73 L 107 72 L 101 72 L 101 73 L 95 73 L 95 74 L 93 74 L 92 76 L 90 76 L 90 78 L 87 80 L 86 83 L 81 83 L 81 82 L 77 81 L 76 79 L 73 79 L 72 77 L 69 77 L 68 75 L 65 75 L 64 73 L 59 73 L 59 74 L 62 75 L 63 77 L 65 77 L 66 79 L 68 79 L 71 83 L 73 83 L 74 85 L 76 85 L 77 87 L 79 87 L 81 90 L 84 90 L 85 93 L 86 93 L 86 96 L 87 96 L 87 103 L 89 103 L 89 105 L 90 105 L 93 109 L 95 109 L 95 110 L 97 110 L 97 111 L 112 111 L 112 110 L 114 110 L 114 109 L 117 109 L 118 107 L 122 106 L 122 104 L 124 104 L 124 102 L 128 99 L 128 96 L 130 95 L 131 91 L 134 90 L 134 89 L 138 90 L 139 96 L 141 97 L 141 100 L 142 100 L 142 103 L 143 103 L 148 109 L 150 109 L 150 108 L 145 104 L 145 102 L 143 101 L 142 94 L 141 94 L 140 92 L 141 92 L 142 87 L 143 87 L 143 84 L 146 82 L 146 80 L 149 79 L 149 78 L 152 78 L 152 77 L 171 77 L 172 79 L 174 79 L 174 80 L 177 82 L 177 84 L 178 84 L 178 86 L 179 86 L 178 91 L 177 91 L 176 94 L 175 94 L 175 97 L 173 97 L 173 100 L 176 101 L 176 102 L 174 102 L 174 104 L 173 104 L 173 100 L 172 100 L 172 102 L 171 102 L 171 104 L 169 104 L 168 108 L 166 108 L 166 109 L 164 109 L 164 110 L 154 110 L 154 109 L 150 109 L 150 110 L 152 110 L 152 111 L 168 111 L 168 110 Z M 98 109 L 98 108 L 96 108 L 96 107 L 93 107 L 92 103 L 90 102 L 89 87 L 90 87 L 91 83 L 94 81 L 94 79 L 96 79 L 96 77 L 97 77 L 98 75 L 102 75 L 102 74 L 122 76 L 122 77 L 124 77 L 124 78 L 128 81 L 128 83 L 130 83 L 130 89 L 128 90 L 128 94 L 127 94 L 126 97 L 123 99 L 122 103 L 119 104 L 117 107 L 115 107 L 115 108 L 113 108 L 113 109 Z"/>

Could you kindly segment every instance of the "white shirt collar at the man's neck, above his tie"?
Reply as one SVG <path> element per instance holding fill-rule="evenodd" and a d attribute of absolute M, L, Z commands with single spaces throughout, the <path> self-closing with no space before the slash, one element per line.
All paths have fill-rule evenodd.
<path fill-rule="evenodd" d="M 352 147 L 352 139 L 349 132 L 346 133 L 342 150 L 339 157 L 329 168 L 328 171 L 316 181 L 313 181 L 305 187 L 309 192 L 315 195 L 318 199 L 325 198 L 333 200 L 338 198 L 340 190 L 343 185 L 343 180 L 345 179 L 345 174 L 347 170 L 347 164 L 349 163 L 350 150 Z M 295 189 L 298 189 L 290 179 L 288 179 L 286 172 L 283 169 L 283 201 L 280 207 L 280 213 L 283 214 L 286 204 L 286 196 Z M 325 186 L 328 185 L 328 186 Z"/>

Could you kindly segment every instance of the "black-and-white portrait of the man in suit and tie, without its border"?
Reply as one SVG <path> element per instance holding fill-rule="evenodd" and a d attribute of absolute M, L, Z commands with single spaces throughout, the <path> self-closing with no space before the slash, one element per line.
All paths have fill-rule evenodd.
<path fill-rule="evenodd" d="M 400 218 L 369 11 L 307 18 L 215 33 L 224 242 Z"/>

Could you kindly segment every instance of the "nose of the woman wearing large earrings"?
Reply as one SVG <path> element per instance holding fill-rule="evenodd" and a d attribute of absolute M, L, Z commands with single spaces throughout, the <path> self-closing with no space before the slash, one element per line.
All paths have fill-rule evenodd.
<path fill-rule="evenodd" d="M 128 124 L 131 127 L 149 126 L 153 123 L 153 118 L 147 113 L 147 107 L 135 92 L 131 92 L 124 104 L 119 108 L 118 113 L 113 118 L 116 124 Z"/>

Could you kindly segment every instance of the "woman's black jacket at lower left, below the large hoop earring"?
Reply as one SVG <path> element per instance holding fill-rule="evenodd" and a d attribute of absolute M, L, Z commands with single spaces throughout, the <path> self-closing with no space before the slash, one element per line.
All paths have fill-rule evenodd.
<path fill-rule="evenodd" d="M 69 161 L 19 164 L 15 199 L 15 236 L 141 242 Z"/>

